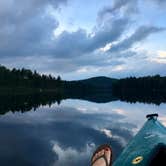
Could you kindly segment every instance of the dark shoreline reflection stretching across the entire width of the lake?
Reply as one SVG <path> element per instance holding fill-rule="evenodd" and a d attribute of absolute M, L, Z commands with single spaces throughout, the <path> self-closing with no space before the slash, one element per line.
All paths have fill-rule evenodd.
<path fill-rule="evenodd" d="M 164 103 L 165 100 L 162 101 L 160 98 L 149 98 L 147 97 L 139 97 L 139 96 L 120 96 L 120 100 L 124 100 L 130 103 L 144 102 L 144 103 L 154 103 L 156 105 Z M 56 94 L 54 92 L 41 92 L 34 93 L 31 95 L 0 95 L 0 114 L 5 114 L 8 111 L 12 112 L 27 112 L 32 109 L 35 111 L 37 108 L 41 106 L 51 106 L 55 103 L 58 105 L 66 99 L 81 99 L 85 101 L 91 101 L 95 103 L 108 103 L 111 101 L 117 101 L 118 98 L 114 97 L 111 91 L 93 91 L 89 93 L 80 93 L 80 92 L 66 92 Z M 158 99 L 158 100 L 157 100 Z M 119 110 L 122 111 L 122 110 Z"/>

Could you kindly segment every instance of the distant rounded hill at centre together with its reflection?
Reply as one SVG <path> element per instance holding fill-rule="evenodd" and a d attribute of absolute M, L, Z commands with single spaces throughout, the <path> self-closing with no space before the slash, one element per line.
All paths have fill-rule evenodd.
<path fill-rule="evenodd" d="M 92 77 L 84 80 L 65 81 L 64 96 L 71 99 L 82 99 L 97 103 L 116 100 L 112 96 L 112 85 L 117 79 L 109 77 Z"/>

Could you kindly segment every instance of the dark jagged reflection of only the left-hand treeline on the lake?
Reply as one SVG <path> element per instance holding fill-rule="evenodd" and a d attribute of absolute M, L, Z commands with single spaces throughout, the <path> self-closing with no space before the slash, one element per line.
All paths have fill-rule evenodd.
<path fill-rule="evenodd" d="M 40 106 L 54 103 L 60 104 L 61 96 L 59 94 L 31 94 L 31 95 L 0 95 L 0 114 L 8 111 L 26 112 L 36 110 Z"/>

